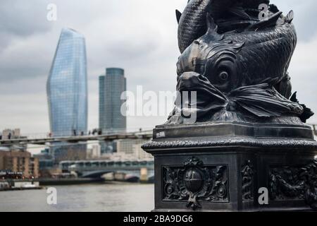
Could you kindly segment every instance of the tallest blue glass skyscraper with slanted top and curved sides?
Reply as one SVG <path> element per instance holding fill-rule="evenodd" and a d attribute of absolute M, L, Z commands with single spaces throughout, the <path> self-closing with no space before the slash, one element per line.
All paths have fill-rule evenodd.
<path fill-rule="evenodd" d="M 46 91 L 52 136 L 77 136 L 87 133 L 85 37 L 75 30 L 65 28 L 61 31 Z M 57 162 L 66 158 L 82 159 L 86 149 L 86 145 L 54 146 Z"/>

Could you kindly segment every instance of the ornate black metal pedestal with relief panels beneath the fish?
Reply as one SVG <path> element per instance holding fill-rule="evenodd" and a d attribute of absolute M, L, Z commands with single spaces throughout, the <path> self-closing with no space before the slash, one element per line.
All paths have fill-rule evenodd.
<path fill-rule="evenodd" d="M 156 126 L 153 141 L 143 148 L 155 157 L 156 211 L 317 207 L 317 142 L 309 126 Z M 266 189 L 268 205 L 260 205 Z"/>

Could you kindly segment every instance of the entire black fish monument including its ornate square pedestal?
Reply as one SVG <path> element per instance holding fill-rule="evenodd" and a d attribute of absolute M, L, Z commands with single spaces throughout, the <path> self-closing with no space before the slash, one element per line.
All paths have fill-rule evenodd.
<path fill-rule="evenodd" d="M 189 0 L 176 16 L 180 95 L 142 146 L 155 157 L 155 210 L 317 210 L 317 142 L 303 123 L 313 112 L 287 72 L 293 11 Z"/>

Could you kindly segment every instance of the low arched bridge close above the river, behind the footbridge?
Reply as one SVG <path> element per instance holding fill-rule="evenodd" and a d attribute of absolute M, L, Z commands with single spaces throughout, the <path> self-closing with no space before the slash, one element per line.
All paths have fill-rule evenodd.
<path fill-rule="evenodd" d="M 59 163 L 63 172 L 76 172 L 79 177 L 96 178 L 110 172 L 132 174 L 140 177 L 140 170 L 147 169 L 147 177 L 154 177 L 154 160 L 82 160 Z"/>

